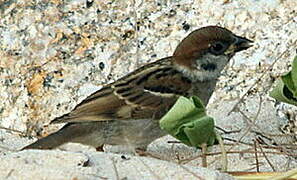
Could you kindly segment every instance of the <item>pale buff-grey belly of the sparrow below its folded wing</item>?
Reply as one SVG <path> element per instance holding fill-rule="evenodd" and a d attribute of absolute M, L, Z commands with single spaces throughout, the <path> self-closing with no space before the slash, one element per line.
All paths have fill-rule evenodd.
<path fill-rule="evenodd" d="M 80 123 L 89 132 L 73 139 L 94 147 L 103 144 L 127 145 L 135 148 L 145 148 L 155 139 L 167 133 L 163 131 L 157 120 L 115 120 L 102 122 Z"/>

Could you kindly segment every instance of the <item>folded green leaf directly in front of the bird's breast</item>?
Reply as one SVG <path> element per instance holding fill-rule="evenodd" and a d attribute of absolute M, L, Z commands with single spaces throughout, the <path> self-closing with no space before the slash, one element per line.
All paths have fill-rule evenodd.
<path fill-rule="evenodd" d="M 160 127 L 188 146 L 213 145 L 216 139 L 213 118 L 206 115 L 202 101 L 180 97 L 160 120 Z"/>

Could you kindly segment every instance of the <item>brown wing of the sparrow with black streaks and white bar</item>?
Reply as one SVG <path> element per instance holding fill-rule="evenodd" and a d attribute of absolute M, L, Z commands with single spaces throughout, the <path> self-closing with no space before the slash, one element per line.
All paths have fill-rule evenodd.
<path fill-rule="evenodd" d="M 161 59 L 103 87 L 52 123 L 160 118 L 190 88 L 170 58 Z"/>

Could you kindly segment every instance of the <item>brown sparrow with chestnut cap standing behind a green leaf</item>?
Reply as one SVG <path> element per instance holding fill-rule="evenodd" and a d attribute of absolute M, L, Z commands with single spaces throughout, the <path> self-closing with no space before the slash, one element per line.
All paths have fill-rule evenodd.
<path fill-rule="evenodd" d="M 67 123 L 23 149 L 53 149 L 67 142 L 103 150 L 104 144 L 136 150 L 167 133 L 159 126 L 179 96 L 198 96 L 207 105 L 221 71 L 252 41 L 218 26 L 190 33 L 172 56 L 140 67 L 94 92 L 51 123 Z"/>

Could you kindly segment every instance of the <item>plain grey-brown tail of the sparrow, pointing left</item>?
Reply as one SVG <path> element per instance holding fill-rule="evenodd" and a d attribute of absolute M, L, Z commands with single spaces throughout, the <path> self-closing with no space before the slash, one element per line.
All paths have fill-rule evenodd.
<path fill-rule="evenodd" d="M 59 131 L 50 134 L 44 138 L 37 140 L 36 142 L 22 148 L 25 149 L 53 149 L 56 148 L 66 142 L 71 141 L 73 137 L 73 128 L 71 128 L 71 124 L 66 124 Z"/>

